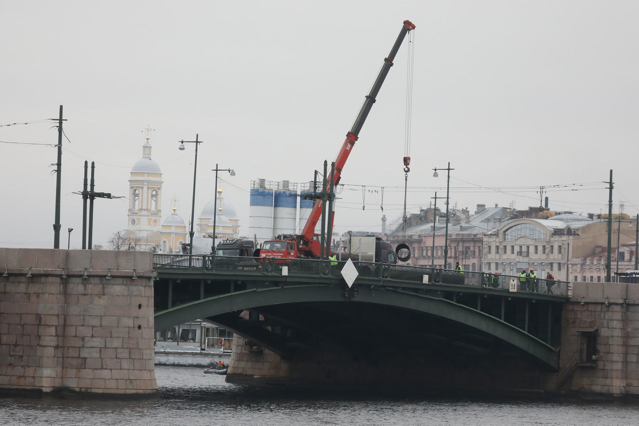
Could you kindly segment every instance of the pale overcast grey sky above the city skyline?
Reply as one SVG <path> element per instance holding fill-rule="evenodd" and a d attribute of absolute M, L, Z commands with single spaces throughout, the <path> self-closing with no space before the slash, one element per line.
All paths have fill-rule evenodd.
<path fill-rule="evenodd" d="M 405 19 L 417 26 L 410 212 L 445 195 L 431 169 L 449 161 L 450 203 L 472 211 L 539 205 L 546 186 L 553 210 L 607 212 L 610 169 L 615 212 L 639 211 L 635 1 L 0 0 L 0 125 L 64 106 L 61 247 L 67 228 L 81 247 L 84 160 L 96 191 L 127 196 L 148 125 L 163 217 L 173 196 L 190 217 L 194 147 L 178 141 L 197 133 L 196 216 L 217 162 L 236 171 L 224 197 L 246 234 L 250 181 L 304 182 L 334 160 Z M 402 215 L 407 42 L 344 167 L 337 232 Z M 0 127 L 0 141 L 55 145 L 52 125 Z M 52 247 L 56 149 L 0 150 L 0 246 Z M 567 184 L 585 185 L 551 187 Z M 127 207 L 95 201 L 94 243 L 126 228 Z"/>

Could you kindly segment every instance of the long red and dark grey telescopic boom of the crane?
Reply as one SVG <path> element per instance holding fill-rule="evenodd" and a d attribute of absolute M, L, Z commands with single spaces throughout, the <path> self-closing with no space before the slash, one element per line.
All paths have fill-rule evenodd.
<path fill-rule="evenodd" d="M 332 180 L 334 182 L 334 185 L 339 184 L 339 179 L 341 177 L 344 164 L 346 164 L 348 155 L 353 150 L 353 146 L 355 146 L 355 141 L 357 141 L 358 134 L 360 130 L 362 130 L 364 122 L 366 122 L 366 118 L 368 116 L 368 113 L 371 111 L 371 107 L 373 107 L 373 104 L 375 103 L 375 98 L 377 96 L 377 93 L 380 91 L 381 84 L 384 83 L 384 79 L 389 73 L 390 67 L 393 66 L 393 59 L 395 58 L 397 51 L 399 51 L 399 47 L 404 41 L 406 34 L 408 33 L 408 31 L 412 31 L 413 29 L 415 29 L 415 25 L 413 25 L 413 23 L 409 20 L 404 20 L 401 31 L 399 31 L 399 35 L 397 36 L 397 40 L 395 40 L 392 49 L 390 49 L 389 56 L 387 58 L 384 58 L 383 65 L 373 83 L 373 87 L 371 88 L 369 94 L 366 95 L 364 104 L 362 104 L 362 108 L 357 114 L 357 118 L 355 118 L 353 127 L 351 127 L 351 130 L 346 134 L 346 140 L 339 150 L 339 154 L 337 154 L 337 159 L 335 159 L 334 176 L 331 176 L 329 173 L 326 177 L 325 187 L 327 188 L 327 193 L 330 192 L 328 188 L 331 187 L 330 182 Z M 313 239 L 315 226 L 317 225 L 319 217 L 321 216 L 321 205 L 321 199 L 315 200 L 315 203 L 311 210 L 311 214 L 309 215 L 308 220 L 306 221 L 306 225 L 304 226 L 304 230 L 302 230 L 302 233 L 300 234 L 300 254 L 303 254 L 305 256 L 317 258 L 321 254 L 319 242 Z M 330 220 L 332 221 L 332 217 Z"/>

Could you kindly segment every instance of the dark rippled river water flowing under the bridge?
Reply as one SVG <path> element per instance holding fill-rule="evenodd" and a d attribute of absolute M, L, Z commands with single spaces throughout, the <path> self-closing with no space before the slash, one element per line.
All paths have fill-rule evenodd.
<path fill-rule="evenodd" d="M 155 368 L 158 397 L 0 398 L 0 425 L 638 425 L 639 406 L 291 391 L 227 384 L 200 367 Z"/>

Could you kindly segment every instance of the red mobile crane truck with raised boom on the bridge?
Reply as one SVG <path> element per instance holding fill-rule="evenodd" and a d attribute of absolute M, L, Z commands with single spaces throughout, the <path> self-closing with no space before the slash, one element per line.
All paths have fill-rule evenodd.
<path fill-rule="evenodd" d="M 353 123 L 353 127 L 351 127 L 351 130 L 346 134 L 346 140 L 344 141 L 342 148 L 339 150 L 339 154 L 337 154 L 337 159 L 335 159 L 334 176 L 331 176 L 331 174 L 328 173 L 327 177 L 325 178 L 326 193 L 329 196 L 331 195 L 330 183 L 333 182 L 334 185 L 339 184 L 339 179 L 341 177 L 344 164 L 346 164 L 348 155 L 351 153 L 351 150 L 353 150 L 353 146 L 355 146 L 355 141 L 357 141 L 358 139 L 358 134 L 360 130 L 362 130 L 362 126 L 366 121 L 368 113 L 371 111 L 371 107 L 373 107 L 375 97 L 380 91 L 381 84 L 384 83 L 384 79 L 389 73 L 390 67 L 393 66 L 393 59 L 395 58 L 397 51 L 399 51 L 399 47 L 404 41 L 406 34 L 408 33 L 408 31 L 412 31 L 413 29 L 415 29 L 415 25 L 410 22 L 410 20 L 404 20 L 401 31 L 399 31 L 399 35 L 397 36 L 397 40 L 395 40 L 392 49 L 390 49 L 389 56 L 387 58 L 384 58 L 383 66 L 381 67 L 380 72 L 373 83 L 373 87 L 371 88 L 369 94 L 366 95 L 366 100 L 364 100 L 364 104 L 362 104 L 362 108 L 360 109 L 359 114 L 357 114 L 357 118 Z M 315 226 L 317 225 L 319 217 L 321 216 L 321 210 L 322 200 L 321 198 L 318 198 L 317 200 L 315 200 L 315 203 L 311 210 L 311 214 L 306 221 L 306 225 L 304 226 L 304 230 L 302 230 L 302 233 L 300 235 L 295 235 L 295 237 L 291 237 L 289 241 L 265 241 L 265 243 L 263 244 L 263 248 L 260 251 L 260 256 L 275 258 L 321 257 L 321 244 L 319 243 L 319 241 L 313 239 Z M 330 212 L 330 215 L 330 223 L 332 223 L 332 212 Z"/>

